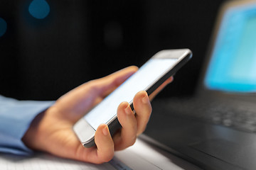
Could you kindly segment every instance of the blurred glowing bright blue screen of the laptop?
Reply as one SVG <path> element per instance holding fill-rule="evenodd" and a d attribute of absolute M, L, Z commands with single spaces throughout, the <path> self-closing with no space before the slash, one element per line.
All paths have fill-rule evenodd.
<path fill-rule="evenodd" d="M 256 4 L 225 11 L 204 84 L 212 90 L 256 92 Z"/>

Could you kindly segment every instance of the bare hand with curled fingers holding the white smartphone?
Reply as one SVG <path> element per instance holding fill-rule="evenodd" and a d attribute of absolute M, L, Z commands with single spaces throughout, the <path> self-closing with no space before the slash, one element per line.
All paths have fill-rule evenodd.
<path fill-rule="evenodd" d="M 102 124 L 97 128 L 96 147 L 83 147 L 73 132 L 73 125 L 134 72 L 137 72 L 137 67 L 127 67 L 102 79 L 82 84 L 60 97 L 53 106 L 33 120 L 23 136 L 23 142 L 31 149 L 49 152 L 58 157 L 95 164 L 110 161 L 114 150 L 133 145 L 137 135 L 145 130 L 151 115 L 151 104 L 146 91 L 140 91 L 134 96 L 136 116 L 129 103 L 122 102 L 119 105 L 117 118 L 122 129 L 113 138 L 107 125 Z M 154 97 L 171 80 L 172 78 L 166 81 L 150 97 Z"/>

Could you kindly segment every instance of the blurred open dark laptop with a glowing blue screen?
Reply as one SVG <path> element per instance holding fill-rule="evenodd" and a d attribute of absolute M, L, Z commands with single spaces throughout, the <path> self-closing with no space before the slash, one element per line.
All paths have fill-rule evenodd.
<path fill-rule="evenodd" d="M 203 67 L 195 96 L 152 103 L 145 134 L 202 169 L 256 169 L 256 1 L 221 6 Z"/>

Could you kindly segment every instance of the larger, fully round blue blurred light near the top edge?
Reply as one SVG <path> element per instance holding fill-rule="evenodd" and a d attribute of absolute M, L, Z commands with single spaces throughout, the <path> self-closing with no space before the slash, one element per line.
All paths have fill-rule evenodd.
<path fill-rule="evenodd" d="M 28 11 L 34 18 L 43 19 L 50 13 L 50 6 L 45 0 L 33 0 L 28 7 Z"/>

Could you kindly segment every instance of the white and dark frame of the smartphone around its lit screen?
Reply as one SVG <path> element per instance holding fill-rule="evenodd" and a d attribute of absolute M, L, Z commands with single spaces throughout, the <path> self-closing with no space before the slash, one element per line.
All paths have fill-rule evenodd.
<path fill-rule="evenodd" d="M 146 89 L 144 89 L 148 95 L 150 95 L 153 91 L 155 91 L 161 84 L 166 81 L 169 77 L 171 77 L 174 73 L 178 71 L 188 60 L 192 57 L 192 52 L 189 49 L 178 49 L 178 50 L 161 50 L 157 52 L 156 55 L 151 57 L 151 59 L 177 59 L 176 63 L 173 67 L 170 67 L 164 74 L 159 75 L 159 79 L 157 79 L 154 83 L 149 84 Z M 121 102 L 121 101 L 120 101 Z M 129 103 L 132 110 L 133 102 Z M 97 106 L 96 106 L 97 107 Z M 107 123 L 110 129 L 111 135 L 114 135 L 114 132 L 121 128 L 117 120 L 117 114 L 114 115 Z M 73 126 L 73 130 L 75 131 L 76 135 L 78 136 L 80 142 L 84 147 L 92 147 L 95 145 L 94 135 L 96 130 L 92 128 L 92 126 L 87 123 L 85 118 L 80 118 L 77 123 Z"/>

